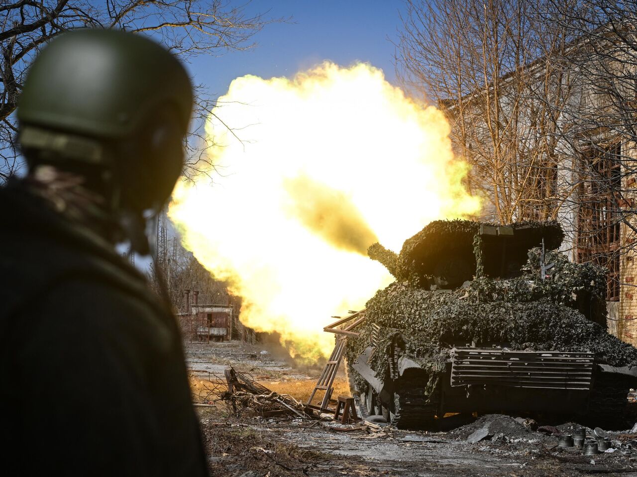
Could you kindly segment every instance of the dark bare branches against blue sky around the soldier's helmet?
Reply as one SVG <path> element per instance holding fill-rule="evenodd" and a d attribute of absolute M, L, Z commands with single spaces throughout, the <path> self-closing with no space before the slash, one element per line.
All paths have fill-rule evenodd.
<path fill-rule="evenodd" d="M 76 28 L 117 28 L 161 41 L 183 61 L 196 55 L 220 55 L 254 46 L 252 36 L 272 21 L 250 14 L 247 3 L 231 0 L 16 0 L 0 4 L 0 183 L 21 166 L 15 148 L 14 111 L 25 73 L 50 39 Z M 210 114 L 212 101 L 198 87 L 195 117 Z M 201 121 L 187 141 L 185 173 L 196 173 L 207 160 Z"/>

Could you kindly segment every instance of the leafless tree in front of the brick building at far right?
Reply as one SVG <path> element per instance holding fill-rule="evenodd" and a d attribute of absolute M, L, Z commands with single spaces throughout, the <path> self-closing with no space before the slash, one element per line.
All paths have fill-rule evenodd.
<path fill-rule="evenodd" d="M 550 8 L 573 38 L 565 59 L 576 72 L 575 101 L 564 108 L 574 152 L 578 261 L 609 272 L 610 328 L 637 343 L 633 294 L 637 246 L 637 1 L 583 0 Z"/>

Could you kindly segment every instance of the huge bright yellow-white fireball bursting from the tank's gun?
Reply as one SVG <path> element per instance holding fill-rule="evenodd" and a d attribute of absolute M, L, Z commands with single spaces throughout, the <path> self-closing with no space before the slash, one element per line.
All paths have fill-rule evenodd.
<path fill-rule="evenodd" d="M 315 362 L 334 346 L 330 317 L 392 281 L 369 245 L 399 252 L 431 220 L 480 210 L 449 132 L 369 64 L 236 78 L 206 124 L 213 166 L 177 185 L 168 214 L 243 297 L 241 322 Z"/>

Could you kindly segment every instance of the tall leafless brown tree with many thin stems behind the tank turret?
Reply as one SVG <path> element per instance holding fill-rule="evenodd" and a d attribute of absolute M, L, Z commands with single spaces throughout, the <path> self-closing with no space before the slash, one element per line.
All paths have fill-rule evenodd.
<path fill-rule="evenodd" d="M 569 32 L 538 16 L 540 0 L 407 0 L 397 68 L 452 120 L 469 187 L 503 223 L 557 218 L 566 183 L 557 157 L 571 69 Z"/>

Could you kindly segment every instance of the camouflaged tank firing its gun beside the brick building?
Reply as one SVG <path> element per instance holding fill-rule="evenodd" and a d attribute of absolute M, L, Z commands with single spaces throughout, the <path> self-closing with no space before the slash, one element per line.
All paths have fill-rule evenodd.
<path fill-rule="evenodd" d="M 605 269 L 569 262 L 562 239 L 556 222 L 440 220 L 399 254 L 372 245 L 396 281 L 347 338 L 368 413 L 403 429 L 492 412 L 626 429 L 637 349 L 606 331 Z"/>

